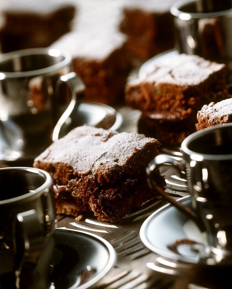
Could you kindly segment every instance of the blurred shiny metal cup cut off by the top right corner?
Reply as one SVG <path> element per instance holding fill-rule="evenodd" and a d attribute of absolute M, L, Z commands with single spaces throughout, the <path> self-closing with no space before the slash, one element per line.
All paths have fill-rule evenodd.
<path fill-rule="evenodd" d="M 180 53 L 225 63 L 232 71 L 231 0 L 182 0 L 173 4 L 170 11 Z"/>

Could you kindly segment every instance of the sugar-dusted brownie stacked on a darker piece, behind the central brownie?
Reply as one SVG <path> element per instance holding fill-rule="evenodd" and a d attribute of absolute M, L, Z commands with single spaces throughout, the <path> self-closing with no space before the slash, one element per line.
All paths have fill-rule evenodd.
<path fill-rule="evenodd" d="M 228 98 L 225 65 L 197 55 L 180 54 L 168 63 L 155 62 L 145 77 L 130 82 L 126 103 L 142 111 L 189 108 Z"/>

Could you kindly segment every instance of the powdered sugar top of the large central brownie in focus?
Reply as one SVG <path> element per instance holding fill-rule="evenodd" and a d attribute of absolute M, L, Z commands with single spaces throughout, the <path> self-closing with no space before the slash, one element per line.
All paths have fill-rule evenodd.
<path fill-rule="evenodd" d="M 149 150 L 156 151 L 159 145 L 157 140 L 141 134 L 81 126 L 51 144 L 35 163 L 68 164 L 76 175 L 92 174 L 101 167 L 110 175 L 119 166 L 143 162 L 144 151 L 146 154 Z"/>

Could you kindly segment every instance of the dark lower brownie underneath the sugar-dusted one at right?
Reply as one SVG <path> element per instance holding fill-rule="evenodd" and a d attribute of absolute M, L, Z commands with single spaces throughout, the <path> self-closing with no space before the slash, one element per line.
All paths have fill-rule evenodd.
<path fill-rule="evenodd" d="M 176 145 L 195 129 L 196 115 L 188 111 L 144 112 L 138 122 L 138 133 L 157 138 L 164 145 Z"/>

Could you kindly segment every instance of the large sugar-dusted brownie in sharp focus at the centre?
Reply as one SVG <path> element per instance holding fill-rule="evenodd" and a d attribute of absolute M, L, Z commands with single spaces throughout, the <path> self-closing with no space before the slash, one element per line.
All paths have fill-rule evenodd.
<path fill-rule="evenodd" d="M 58 214 L 93 211 L 99 220 L 116 222 L 157 198 L 145 170 L 159 145 L 140 134 L 82 126 L 51 144 L 34 167 L 52 175 Z M 165 186 L 158 170 L 155 181 Z"/>

